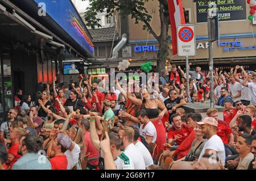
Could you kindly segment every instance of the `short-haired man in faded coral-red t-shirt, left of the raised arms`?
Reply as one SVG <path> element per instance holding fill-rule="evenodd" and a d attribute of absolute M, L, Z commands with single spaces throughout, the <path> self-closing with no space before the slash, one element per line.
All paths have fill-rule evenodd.
<path fill-rule="evenodd" d="M 81 120 L 82 132 L 84 133 L 84 155 L 88 155 L 88 163 L 87 167 L 90 170 L 96 169 L 98 166 L 98 158 L 100 157 L 100 152 L 93 146 L 92 140 L 90 140 L 90 121 L 89 120 Z"/>

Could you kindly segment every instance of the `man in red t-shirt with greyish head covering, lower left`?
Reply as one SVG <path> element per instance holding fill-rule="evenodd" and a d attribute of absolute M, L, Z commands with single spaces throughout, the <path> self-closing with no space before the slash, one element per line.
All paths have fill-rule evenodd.
<path fill-rule="evenodd" d="M 50 159 L 52 170 L 67 170 L 68 158 L 64 154 L 72 146 L 71 138 L 63 133 L 59 133 L 57 137 L 51 137 L 52 150 L 55 156 Z"/>

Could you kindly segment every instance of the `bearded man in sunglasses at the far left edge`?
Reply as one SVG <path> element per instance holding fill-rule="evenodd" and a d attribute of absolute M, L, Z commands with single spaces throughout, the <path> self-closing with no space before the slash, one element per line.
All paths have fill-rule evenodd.
<path fill-rule="evenodd" d="M 9 127 L 11 122 L 16 120 L 18 115 L 18 110 L 16 108 L 11 108 L 7 114 L 8 120 L 1 124 L 0 136 L 8 138 L 9 137 Z"/>

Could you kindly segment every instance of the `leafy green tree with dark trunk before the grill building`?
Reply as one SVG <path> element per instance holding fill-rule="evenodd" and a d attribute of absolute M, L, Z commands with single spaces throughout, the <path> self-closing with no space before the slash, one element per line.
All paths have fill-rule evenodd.
<path fill-rule="evenodd" d="M 84 1 L 84 0 L 82 0 Z M 154 0 L 89 0 L 85 14 L 86 26 L 95 28 L 101 27 L 96 18 L 97 12 L 106 10 L 107 16 L 112 16 L 115 11 L 119 11 L 121 16 L 130 15 L 135 19 L 135 23 L 143 22 L 143 30 L 149 31 L 159 43 L 157 71 L 165 68 L 168 57 L 168 26 L 170 24 L 167 0 L 155 0 L 159 2 L 160 13 L 160 35 L 156 35 L 155 30 L 150 26 L 152 16 L 148 13 L 145 3 Z"/>

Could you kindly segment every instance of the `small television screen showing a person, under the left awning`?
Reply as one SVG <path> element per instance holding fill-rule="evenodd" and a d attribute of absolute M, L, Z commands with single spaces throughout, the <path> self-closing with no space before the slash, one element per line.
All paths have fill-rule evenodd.
<path fill-rule="evenodd" d="M 84 74 L 84 62 L 63 62 L 64 75 Z"/>

